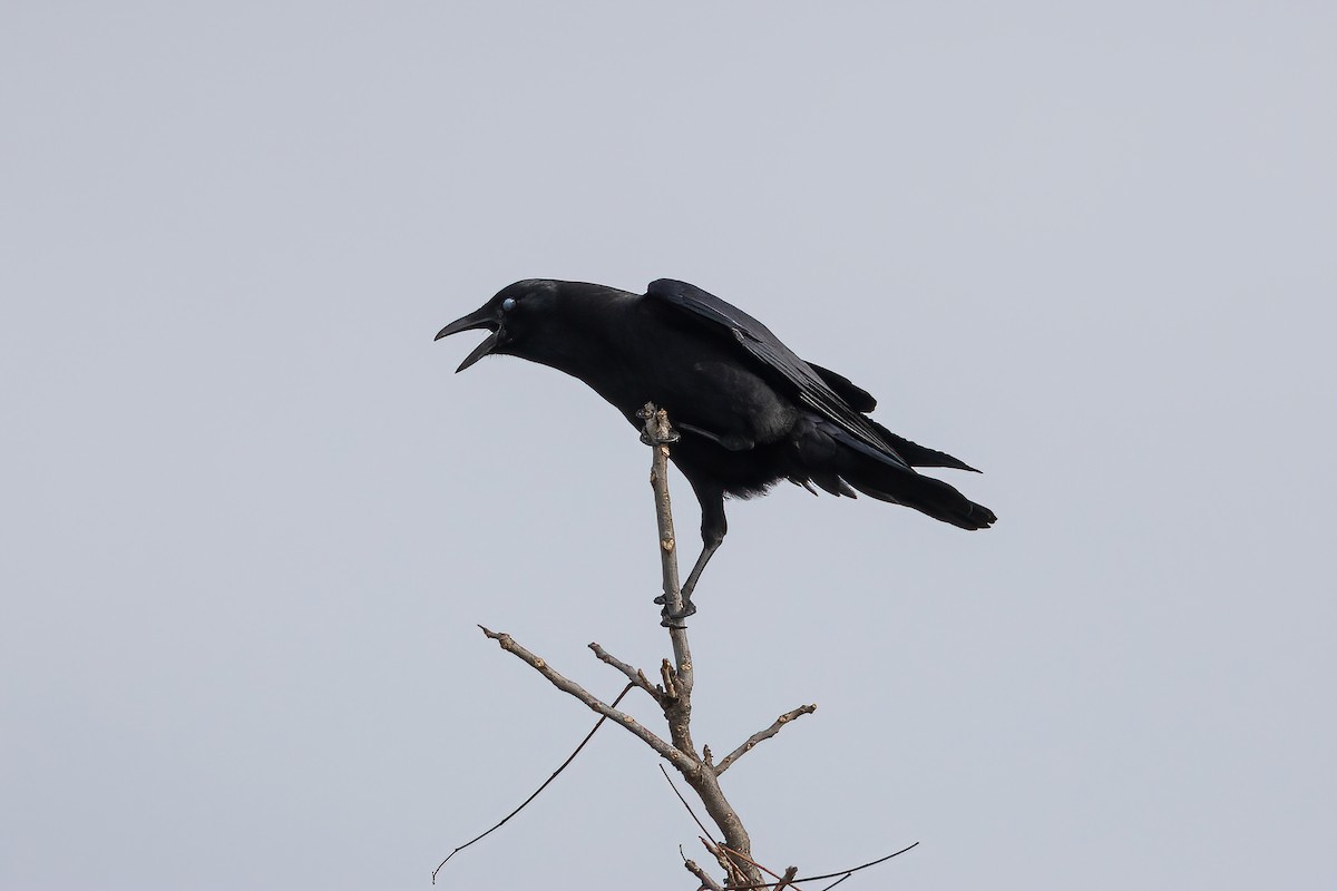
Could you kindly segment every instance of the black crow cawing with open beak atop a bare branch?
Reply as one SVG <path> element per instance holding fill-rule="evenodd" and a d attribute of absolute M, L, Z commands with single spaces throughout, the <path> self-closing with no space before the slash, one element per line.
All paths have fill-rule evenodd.
<path fill-rule="evenodd" d="M 913 468 L 973 468 L 904 439 L 865 413 L 877 405 L 852 382 L 804 362 L 765 325 L 674 279 L 643 295 L 603 285 L 528 279 L 447 325 L 491 331 L 459 371 L 489 353 L 517 355 L 584 381 L 634 425 L 646 402 L 668 410 L 682 435 L 671 460 L 701 502 L 703 549 L 691 590 L 725 538 L 725 496 L 747 498 L 789 480 L 812 490 L 856 492 L 915 508 L 961 529 L 996 517 Z"/>

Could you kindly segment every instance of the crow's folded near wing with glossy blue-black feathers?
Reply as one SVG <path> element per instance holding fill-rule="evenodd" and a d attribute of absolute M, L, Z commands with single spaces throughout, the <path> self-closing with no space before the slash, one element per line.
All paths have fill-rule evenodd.
<path fill-rule="evenodd" d="M 770 329 L 737 306 L 726 303 L 695 285 L 671 278 L 651 282 L 650 287 L 646 289 L 646 297 L 670 303 L 727 330 L 745 350 L 785 381 L 801 403 L 834 422 L 846 434 L 846 445 L 880 461 L 902 468 L 909 466 L 873 423 L 852 407 L 837 390 L 849 387 L 850 395 L 856 395 L 856 399 L 864 405 L 870 403 L 873 397 L 838 374 L 826 371 L 826 369 L 822 369 L 826 371 L 825 374 L 820 374 L 781 343 L 779 338 L 770 333 Z M 836 379 L 829 382 L 832 378 Z M 836 383 L 836 387 L 832 383 Z"/>

